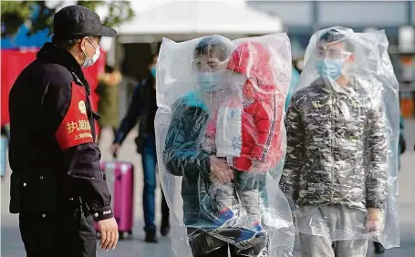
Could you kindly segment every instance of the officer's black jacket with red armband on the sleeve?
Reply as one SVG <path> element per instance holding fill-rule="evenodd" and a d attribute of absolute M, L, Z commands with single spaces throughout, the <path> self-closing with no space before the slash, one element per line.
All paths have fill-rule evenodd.
<path fill-rule="evenodd" d="M 89 92 L 76 59 L 52 43 L 17 77 L 9 95 L 12 213 L 82 202 L 96 221 L 112 217 Z"/>

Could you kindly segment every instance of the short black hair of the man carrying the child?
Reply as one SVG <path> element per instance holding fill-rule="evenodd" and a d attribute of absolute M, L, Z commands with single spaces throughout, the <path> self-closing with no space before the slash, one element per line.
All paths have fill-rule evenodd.
<path fill-rule="evenodd" d="M 194 48 L 194 57 L 197 58 L 202 55 L 215 53 L 221 61 L 226 60 L 231 56 L 232 52 L 232 42 L 230 40 L 226 42 L 226 39 L 218 35 L 202 37 Z"/>

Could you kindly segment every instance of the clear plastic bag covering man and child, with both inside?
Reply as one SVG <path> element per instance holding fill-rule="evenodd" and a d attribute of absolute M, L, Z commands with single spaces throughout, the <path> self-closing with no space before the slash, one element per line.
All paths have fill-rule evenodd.
<path fill-rule="evenodd" d="M 176 256 L 228 256 L 228 243 L 243 256 L 291 256 L 278 189 L 290 77 L 285 34 L 163 40 L 155 128 Z"/>

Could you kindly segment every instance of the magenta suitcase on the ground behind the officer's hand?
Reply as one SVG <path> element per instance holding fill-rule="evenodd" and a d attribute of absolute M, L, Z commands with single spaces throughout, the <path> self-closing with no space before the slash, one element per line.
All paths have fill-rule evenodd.
<path fill-rule="evenodd" d="M 114 218 L 119 225 L 119 238 L 124 233 L 132 235 L 134 210 L 134 167 L 125 161 L 103 161 L 101 169 L 104 171 L 112 196 L 111 207 Z"/>

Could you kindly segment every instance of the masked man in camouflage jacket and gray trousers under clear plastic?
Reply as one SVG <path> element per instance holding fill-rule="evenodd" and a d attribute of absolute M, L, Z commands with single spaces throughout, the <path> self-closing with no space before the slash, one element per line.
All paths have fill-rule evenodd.
<path fill-rule="evenodd" d="M 355 70 L 353 32 L 335 27 L 317 35 L 299 84 L 315 71 L 318 77 L 295 92 L 286 114 L 280 188 L 298 207 L 303 256 L 366 256 L 365 233 L 384 226 L 386 118 L 373 97 L 379 88 Z"/>

